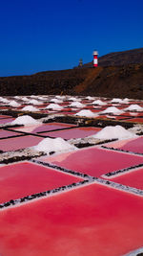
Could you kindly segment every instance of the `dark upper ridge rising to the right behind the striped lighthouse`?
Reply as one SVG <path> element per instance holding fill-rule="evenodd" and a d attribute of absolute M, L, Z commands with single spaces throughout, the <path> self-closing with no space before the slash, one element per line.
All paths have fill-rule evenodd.
<path fill-rule="evenodd" d="M 102 67 L 143 63 L 143 48 L 110 53 L 99 57 L 98 60 L 99 66 Z M 83 67 L 92 67 L 92 62 L 84 64 Z"/>

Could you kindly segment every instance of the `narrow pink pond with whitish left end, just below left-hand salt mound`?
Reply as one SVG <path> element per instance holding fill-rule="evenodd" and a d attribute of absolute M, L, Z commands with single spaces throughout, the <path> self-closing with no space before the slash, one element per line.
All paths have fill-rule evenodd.
<path fill-rule="evenodd" d="M 42 131 L 49 131 L 49 130 L 62 129 L 62 128 L 72 128 L 72 127 L 75 127 L 75 125 L 64 124 L 64 123 L 49 123 L 45 125 L 31 126 L 26 128 L 13 128 L 13 129 L 24 131 L 24 132 L 37 133 Z"/>

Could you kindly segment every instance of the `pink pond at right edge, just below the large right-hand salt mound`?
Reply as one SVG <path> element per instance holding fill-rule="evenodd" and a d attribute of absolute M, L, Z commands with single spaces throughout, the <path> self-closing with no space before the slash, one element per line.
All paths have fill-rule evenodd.
<path fill-rule="evenodd" d="M 138 153 L 143 153 L 143 136 L 138 138 L 120 140 L 117 142 L 112 142 L 106 144 L 106 147 L 124 150 L 124 151 L 133 151 Z"/>

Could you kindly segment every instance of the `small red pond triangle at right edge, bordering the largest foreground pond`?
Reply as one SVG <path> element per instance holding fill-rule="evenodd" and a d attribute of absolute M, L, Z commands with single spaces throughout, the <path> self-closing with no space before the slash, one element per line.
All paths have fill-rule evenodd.
<path fill-rule="evenodd" d="M 143 168 L 132 170 L 122 175 L 112 176 L 110 180 L 126 186 L 143 190 Z"/>

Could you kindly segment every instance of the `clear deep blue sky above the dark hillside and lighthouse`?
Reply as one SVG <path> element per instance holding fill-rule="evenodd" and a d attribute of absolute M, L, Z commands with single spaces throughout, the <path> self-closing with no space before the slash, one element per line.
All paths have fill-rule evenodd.
<path fill-rule="evenodd" d="M 0 76 L 68 69 L 143 47 L 142 0 L 3 0 Z"/>

